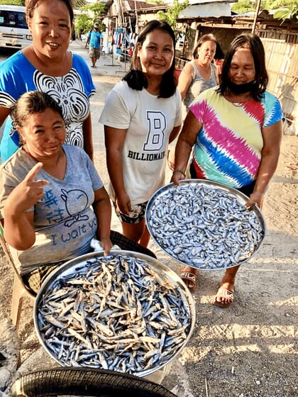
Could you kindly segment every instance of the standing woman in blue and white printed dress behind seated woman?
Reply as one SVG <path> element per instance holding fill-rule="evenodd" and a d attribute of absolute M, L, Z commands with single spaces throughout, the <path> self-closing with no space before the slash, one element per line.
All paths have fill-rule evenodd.
<path fill-rule="evenodd" d="M 26 0 L 26 18 L 33 43 L 0 65 L 0 125 L 26 91 L 43 91 L 60 104 L 66 142 L 81 147 L 93 160 L 89 97 L 95 93 L 85 60 L 68 51 L 74 13 L 71 0 Z M 11 117 L 1 140 L 1 161 L 20 145 Z"/>

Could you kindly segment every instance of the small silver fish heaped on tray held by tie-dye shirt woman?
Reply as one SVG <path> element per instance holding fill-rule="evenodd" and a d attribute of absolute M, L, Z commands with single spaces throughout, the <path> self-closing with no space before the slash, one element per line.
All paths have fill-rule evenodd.
<path fill-rule="evenodd" d="M 216 186 L 181 184 L 148 205 L 150 234 L 173 258 L 198 269 L 224 269 L 248 259 L 264 237 L 260 218 Z"/>

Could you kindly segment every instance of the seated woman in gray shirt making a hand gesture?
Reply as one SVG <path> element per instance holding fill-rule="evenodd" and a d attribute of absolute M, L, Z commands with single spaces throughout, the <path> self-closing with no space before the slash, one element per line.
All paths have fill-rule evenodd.
<path fill-rule="evenodd" d="M 14 123 L 23 146 L 1 165 L 4 237 L 33 292 L 59 264 L 90 250 L 96 237 L 111 250 L 111 203 L 89 156 L 65 144 L 60 106 L 30 91 L 18 99 Z"/>

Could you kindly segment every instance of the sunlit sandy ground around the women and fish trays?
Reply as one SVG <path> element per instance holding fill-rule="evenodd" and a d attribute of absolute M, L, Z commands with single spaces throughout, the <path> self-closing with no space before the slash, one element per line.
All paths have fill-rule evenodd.
<path fill-rule="evenodd" d="M 82 46 L 74 43 L 72 50 L 86 57 Z M 109 56 L 101 57 L 97 69 L 92 70 L 97 87 L 92 98 L 95 164 L 105 183 L 108 175 L 103 129 L 98 118 L 106 94 L 124 72 L 123 63 L 106 65 L 111 65 Z M 197 315 L 193 335 L 162 380 L 177 396 L 297 396 L 298 176 L 287 167 L 297 162 L 298 138 L 284 135 L 280 162 L 263 209 L 267 236 L 257 254 L 238 272 L 236 301 L 231 308 L 211 304 L 223 271 L 199 273 L 194 293 Z M 115 216 L 112 228 L 120 231 Z M 179 274 L 180 265 L 153 241 L 149 248 Z M 40 347 L 29 299 L 23 305 L 18 334 L 11 325 L 13 272 L 2 252 L 0 255 L 0 352 L 6 356 L 0 368 L 0 394 L 9 394 L 16 374 L 57 364 Z M 21 367 L 17 370 L 18 353 Z M 4 372 L 6 383 L 1 388 Z"/>

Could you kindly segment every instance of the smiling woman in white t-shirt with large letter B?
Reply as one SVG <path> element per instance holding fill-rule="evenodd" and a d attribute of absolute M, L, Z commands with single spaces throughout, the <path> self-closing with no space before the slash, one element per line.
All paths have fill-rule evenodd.
<path fill-rule="evenodd" d="M 130 72 L 110 91 L 99 120 L 123 235 L 144 247 L 150 240 L 145 207 L 165 183 L 167 147 L 182 123 L 174 72 L 175 34 L 166 22 L 150 21 L 138 35 Z"/>

